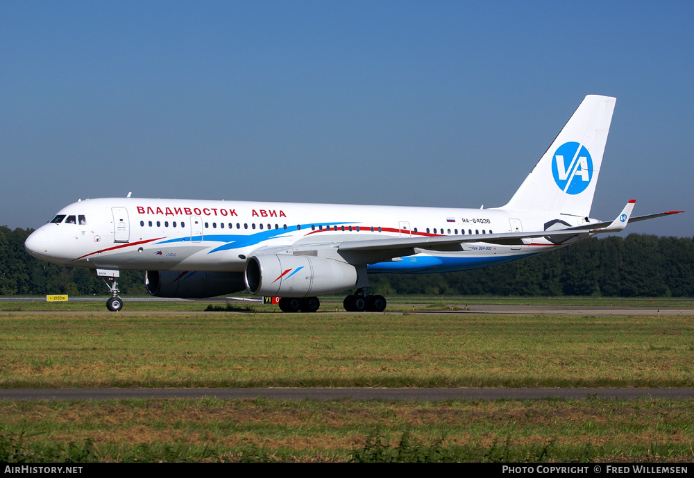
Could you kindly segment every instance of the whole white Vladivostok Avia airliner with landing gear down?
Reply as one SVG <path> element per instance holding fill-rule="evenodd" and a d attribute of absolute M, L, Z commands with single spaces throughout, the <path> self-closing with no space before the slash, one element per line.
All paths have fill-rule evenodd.
<path fill-rule="evenodd" d="M 118 311 L 119 271 L 144 270 L 154 296 L 243 291 L 280 296 L 285 312 L 314 312 L 319 296 L 356 289 L 347 311 L 384 311 L 369 274 L 439 273 L 505 264 L 627 223 L 591 219 L 616 99 L 586 96 L 506 205 L 489 209 L 98 198 L 63 207 L 24 243 L 49 262 L 104 278 Z"/>

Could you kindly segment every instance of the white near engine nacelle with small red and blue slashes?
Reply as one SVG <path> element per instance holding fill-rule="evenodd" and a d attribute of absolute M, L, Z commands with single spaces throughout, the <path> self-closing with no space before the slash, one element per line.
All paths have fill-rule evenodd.
<path fill-rule="evenodd" d="M 357 269 L 325 257 L 265 254 L 248 259 L 244 280 L 257 296 L 310 297 L 352 289 Z"/>

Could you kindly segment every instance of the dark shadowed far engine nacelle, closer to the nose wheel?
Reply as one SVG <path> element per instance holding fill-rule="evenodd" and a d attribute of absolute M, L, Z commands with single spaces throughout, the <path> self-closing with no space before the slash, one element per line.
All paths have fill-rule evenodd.
<path fill-rule="evenodd" d="M 241 272 L 146 271 L 144 284 L 157 297 L 200 299 L 246 288 Z"/>

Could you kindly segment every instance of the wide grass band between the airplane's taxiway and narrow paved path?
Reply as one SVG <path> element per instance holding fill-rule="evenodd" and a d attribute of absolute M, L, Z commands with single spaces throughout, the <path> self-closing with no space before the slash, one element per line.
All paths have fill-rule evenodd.
<path fill-rule="evenodd" d="M 0 387 L 694 386 L 694 317 L 0 315 Z"/>

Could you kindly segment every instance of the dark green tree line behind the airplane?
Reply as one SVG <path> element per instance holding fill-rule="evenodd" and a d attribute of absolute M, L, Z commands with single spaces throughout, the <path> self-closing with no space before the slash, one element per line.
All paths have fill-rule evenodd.
<path fill-rule="evenodd" d="M 31 229 L 0 226 L 0 295 L 105 295 L 87 269 L 31 257 Z M 591 238 L 502 266 L 441 274 L 377 274 L 373 293 L 477 296 L 694 296 L 694 238 Z M 121 293 L 144 294 L 144 273 L 123 271 Z"/>

